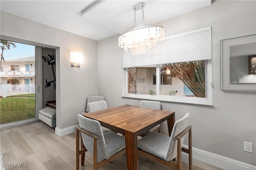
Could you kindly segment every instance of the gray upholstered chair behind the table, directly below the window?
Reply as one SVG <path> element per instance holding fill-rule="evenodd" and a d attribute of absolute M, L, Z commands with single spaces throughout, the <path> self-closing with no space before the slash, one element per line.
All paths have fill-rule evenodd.
<path fill-rule="evenodd" d="M 152 108 L 152 109 L 161 109 L 161 102 L 157 101 L 149 101 L 149 100 L 142 100 L 140 101 L 140 107 Z M 146 133 L 141 134 L 140 136 L 144 137 L 146 134 L 150 132 L 157 132 L 160 133 L 160 125 L 156 125 L 155 127 L 151 128 Z"/>

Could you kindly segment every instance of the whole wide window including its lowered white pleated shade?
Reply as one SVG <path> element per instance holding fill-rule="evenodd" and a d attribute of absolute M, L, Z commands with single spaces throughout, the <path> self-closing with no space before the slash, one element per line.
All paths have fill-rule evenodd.
<path fill-rule="evenodd" d="M 123 53 L 123 97 L 212 105 L 211 27 Z"/>

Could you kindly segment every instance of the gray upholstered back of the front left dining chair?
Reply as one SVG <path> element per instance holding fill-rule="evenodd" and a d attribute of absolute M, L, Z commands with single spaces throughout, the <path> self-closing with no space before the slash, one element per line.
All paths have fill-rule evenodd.
<path fill-rule="evenodd" d="M 97 140 L 98 160 L 108 158 L 106 143 L 105 143 L 100 122 L 93 119 L 89 119 L 80 114 L 78 114 L 77 117 L 78 117 L 79 126 L 81 128 L 99 137 L 99 139 Z M 85 135 L 84 133 L 82 133 L 82 139 L 86 149 L 90 152 L 90 154 L 93 155 L 94 139 L 92 137 L 89 137 L 88 135 Z"/>

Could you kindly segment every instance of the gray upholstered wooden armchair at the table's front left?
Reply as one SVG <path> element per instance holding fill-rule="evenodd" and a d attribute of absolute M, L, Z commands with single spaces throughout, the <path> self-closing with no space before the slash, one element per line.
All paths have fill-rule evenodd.
<path fill-rule="evenodd" d="M 103 133 L 99 121 L 80 114 L 77 117 L 80 127 L 76 127 L 76 170 L 79 170 L 79 155 L 82 154 L 81 165 L 84 165 L 87 151 L 93 155 L 94 170 L 126 152 L 124 137 L 113 131 Z M 81 146 L 79 146 L 79 136 Z"/>

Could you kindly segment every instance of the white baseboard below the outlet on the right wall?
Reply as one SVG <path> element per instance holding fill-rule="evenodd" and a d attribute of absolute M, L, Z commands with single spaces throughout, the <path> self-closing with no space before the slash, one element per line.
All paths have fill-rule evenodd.
<path fill-rule="evenodd" d="M 188 148 L 187 145 L 183 145 L 183 147 Z M 244 162 L 226 158 L 224 156 L 220 156 L 218 154 L 206 152 L 204 150 L 200 150 L 196 148 L 192 148 L 192 155 L 193 155 L 193 158 L 202 160 L 204 162 L 208 162 L 210 164 L 213 164 L 228 170 L 256 170 L 256 166 L 246 164 Z M 182 152 L 182 160 L 184 162 L 188 162 L 187 153 Z"/>

